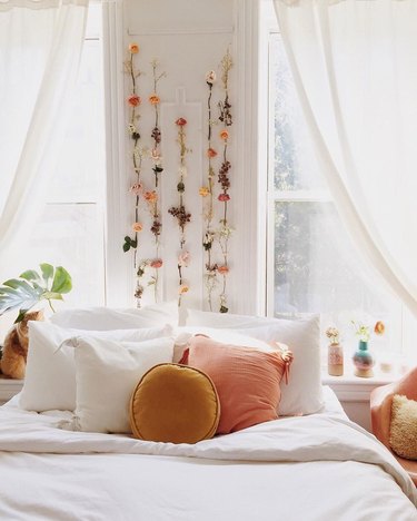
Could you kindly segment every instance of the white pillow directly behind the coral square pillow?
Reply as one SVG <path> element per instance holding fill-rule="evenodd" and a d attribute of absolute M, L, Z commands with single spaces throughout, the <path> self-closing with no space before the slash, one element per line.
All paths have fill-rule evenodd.
<path fill-rule="evenodd" d="M 216 327 L 219 332 L 232 328 L 234 333 L 251 336 L 258 341 L 287 344 L 294 353 L 294 362 L 288 385 L 281 384 L 279 413 L 290 416 L 311 414 L 321 409 L 324 399 L 319 315 L 288 321 L 188 309 L 188 325 Z"/>

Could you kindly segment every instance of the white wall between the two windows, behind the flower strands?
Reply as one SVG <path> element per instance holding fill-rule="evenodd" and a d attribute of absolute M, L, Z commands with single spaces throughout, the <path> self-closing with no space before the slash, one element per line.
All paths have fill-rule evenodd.
<path fill-rule="evenodd" d="M 203 234 L 202 199 L 198 188 L 206 185 L 207 176 L 207 95 L 206 72 L 215 69 L 220 75 L 219 63 L 227 48 L 230 48 L 235 67 L 230 77 L 230 100 L 232 105 L 234 125 L 229 128 L 231 136 L 229 160 L 231 161 L 230 179 L 231 201 L 229 205 L 229 222 L 236 228 L 230 239 L 230 274 L 228 276 L 228 304 L 232 313 L 261 312 L 259 302 L 264 285 L 264 273 L 258 269 L 257 258 L 257 164 L 256 136 L 257 121 L 252 81 L 252 61 L 256 61 L 256 49 L 252 46 L 254 4 L 251 0 L 128 0 L 123 11 L 123 47 L 131 42 L 140 46 L 137 56 L 139 69 L 146 76 L 139 79 L 139 94 L 147 100 L 152 92 L 152 75 L 150 61 L 158 58 L 160 70 L 167 72 L 167 78 L 159 83 L 161 98 L 161 131 L 162 156 L 165 171 L 161 174 L 162 190 L 162 250 L 165 260 L 162 283 L 160 284 L 163 299 L 177 297 L 177 253 L 179 250 L 178 227 L 168 214 L 168 208 L 176 205 L 178 193 L 179 154 L 176 144 L 177 129 L 175 120 L 185 117 L 187 125 L 187 141 L 192 153 L 188 156 L 188 177 L 186 179 L 186 207 L 192 214 L 192 222 L 187 227 L 188 249 L 191 253 L 190 267 L 185 269 L 185 276 L 190 285 L 190 292 L 185 297 L 185 304 L 192 307 L 203 307 L 207 303 L 203 289 L 205 254 L 201 246 Z M 129 94 L 130 82 L 125 77 L 125 96 Z M 220 81 L 214 89 L 212 108 L 217 117 L 217 101 L 222 99 L 224 91 Z M 125 120 L 128 108 L 125 105 Z M 140 129 L 143 145 L 151 145 L 152 109 L 143 102 L 140 109 Z M 218 138 L 220 125 L 214 127 L 214 145 L 220 151 Z M 125 138 L 125 183 L 126 193 L 135 176 L 129 159 L 131 142 Z M 215 169 L 218 171 L 220 159 L 216 158 Z M 143 181 L 151 188 L 153 173 L 151 164 L 145 166 Z M 216 179 L 217 181 L 217 179 Z M 216 183 L 217 185 L 217 183 Z M 126 232 L 129 233 L 133 222 L 133 201 L 125 195 L 127 205 Z M 220 210 L 220 204 L 217 204 Z M 218 222 L 219 216 L 216 217 Z M 152 235 L 146 232 L 145 245 L 139 249 L 140 257 L 152 257 Z M 122 237 L 121 237 L 122 239 Z M 126 254 L 130 255 L 130 254 Z M 220 262 L 221 257 L 215 255 Z M 129 262 L 129 272 L 132 264 Z M 129 283 L 129 291 L 133 281 Z M 260 293 L 259 293 L 260 292 Z M 145 295 L 145 302 L 152 302 L 152 294 Z M 214 311 L 218 311 L 218 299 L 214 298 Z"/>

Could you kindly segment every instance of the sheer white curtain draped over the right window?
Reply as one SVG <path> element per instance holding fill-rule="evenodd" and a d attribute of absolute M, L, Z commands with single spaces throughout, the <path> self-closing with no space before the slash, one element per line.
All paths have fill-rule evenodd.
<path fill-rule="evenodd" d="M 417 2 L 275 0 L 275 8 L 342 222 L 417 316 Z"/>

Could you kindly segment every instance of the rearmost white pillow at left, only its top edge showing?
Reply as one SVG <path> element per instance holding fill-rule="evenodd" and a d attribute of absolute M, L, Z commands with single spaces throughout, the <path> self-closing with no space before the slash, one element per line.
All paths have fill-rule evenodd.
<path fill-rule="evenodd" d="M 61 327 L 86 331 L 139 330 L 163 324 L 178 325 L 177 303 L 163 303 L 140 309 L 112 309 L 89 307 L 86 309 L 63 309 L 54 313 L 50 321 Z"/>

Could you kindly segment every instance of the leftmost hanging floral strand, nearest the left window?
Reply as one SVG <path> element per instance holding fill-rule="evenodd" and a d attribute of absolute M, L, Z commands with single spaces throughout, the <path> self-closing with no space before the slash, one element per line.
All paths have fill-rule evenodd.
<path fill-rule="evenodd" d="M 123 252 L 129 252 L 130 249 L 135 250 L 133 255 L 133 267 L 136 273 L 136 289 L 135 289 L 135 298 L 137 299 L 137 306 L 140 307 L 140 299 L 143 293 L 143 287 L 141 286 L 141 277 L 145 274 L 145 265 L 143 263 L 138 266 L 138 246 L 139 240 L 138 236 L 140 232 L 143 229 L 142 224 L 139 219 L 139 203 L 140 196 L 142 193 L 142 183 L 141 183 L 141 169 L 142 169 L 142 159 L 146 150 L 139 146 L 140 141 L 140 134 L 138 129 L 138 120 L 140 119 L 140 115 L 138 114 L 138 107 L 141 105 L 141 98 L 138 95 L 138 85 L 137 80 L 141 75 L 141 71 L 136 69 L 133 57 L 139 52 L 139 46 L 137 43 L 130 43 L 129 46 L 129 58 L 125 61 L 125 71 L 130 76 L 131 79 L 131 90 L 130 96 L 127 99 L 127 102 L 130 108 L 130 117 L 129 117 L 129 134 L 133 141 L 131 148 L 131 159 L 132 166 L 135 171 L 135 183 L 130 187 L 130 193 L 135 196 L 135 223 L 132 224 L 132 236 L 127 235 L 125 237 L 123 243 Z"/>

